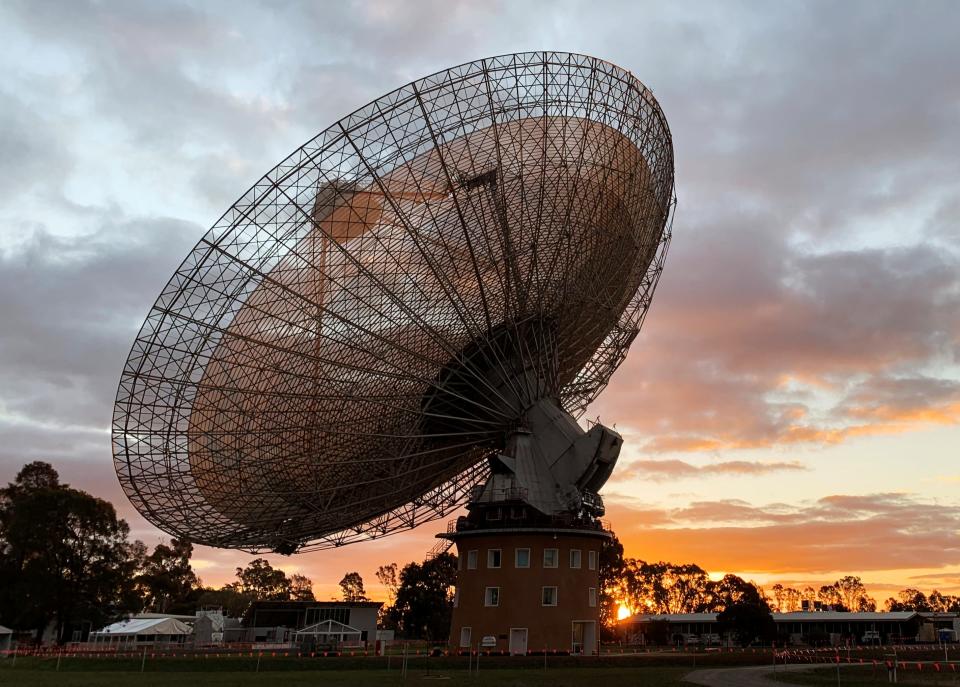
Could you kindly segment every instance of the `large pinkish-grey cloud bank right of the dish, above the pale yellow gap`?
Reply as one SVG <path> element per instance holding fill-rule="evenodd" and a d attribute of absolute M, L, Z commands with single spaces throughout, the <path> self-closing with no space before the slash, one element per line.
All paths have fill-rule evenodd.
<path fill-rule="evenodd" d="M 605 417 L 648 452 L 837 443 L 960 420 L 945 366 L 960 350 L 956 254 L 810 254 L 761 223 L 719 227 L 669 256 L 647 330 L 597 403 Z"/>

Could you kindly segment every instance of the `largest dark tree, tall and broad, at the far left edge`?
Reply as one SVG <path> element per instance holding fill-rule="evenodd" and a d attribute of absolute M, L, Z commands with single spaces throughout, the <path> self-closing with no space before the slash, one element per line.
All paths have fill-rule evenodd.
<path fill-rule="evenodd" d="M 0 619 L 57 639 L 140 609 L 134 577 L 146 552 L 113 506 L 61 484 L 48 463 L 0 489 Z"/>

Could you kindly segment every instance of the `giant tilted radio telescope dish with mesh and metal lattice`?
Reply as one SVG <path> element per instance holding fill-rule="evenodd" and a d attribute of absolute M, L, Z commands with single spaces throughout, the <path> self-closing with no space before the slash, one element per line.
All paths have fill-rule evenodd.
<path fill-rule="evenodd" d="M 157 527 L 290 553 L 442 517 L 537 398 L 579 416 L 650 305 L 670 132 L 629 72 L 505 55 L 415 81 L 254 184 L 151 309 L 114 461 Z"/>

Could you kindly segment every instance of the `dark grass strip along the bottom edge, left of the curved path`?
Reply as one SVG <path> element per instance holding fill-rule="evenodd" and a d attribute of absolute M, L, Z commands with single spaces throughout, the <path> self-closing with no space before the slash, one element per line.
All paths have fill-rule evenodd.
<path fill-rule="evenodd" d="M 265 672 L 136 672 L 130 670 L 61 670 L 50 667 L 0 667 L 0 685 L 17 687 L 110 687 L 111 685 L 135 685 L 136 687 L 253 687 L 281 685 L 282 687 L 426 687 L 436 685 L 471 685 L 474 687 L 581 687 L 582 685 L 624 685 L 638 687 L 673 687 L 684 683 L 681 678 L 689 672 L 680 667 L 639 668 L 496 668 L 468 674 L 466 670 L 410 669 L 403 680 L 399 670 L 382 668 L 358 670 L 284 670 Z"/>

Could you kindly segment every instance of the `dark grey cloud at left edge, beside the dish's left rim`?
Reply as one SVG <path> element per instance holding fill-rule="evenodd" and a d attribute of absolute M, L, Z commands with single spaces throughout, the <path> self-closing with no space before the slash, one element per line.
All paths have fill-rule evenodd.
<path fill-rule="evenodd" d="M 130 343 L 181 251 L 168 218 L 107 219 L 77 238 L 36 231 L 0 251 L 0 418 L 105 428 Z"/>

